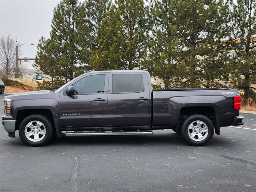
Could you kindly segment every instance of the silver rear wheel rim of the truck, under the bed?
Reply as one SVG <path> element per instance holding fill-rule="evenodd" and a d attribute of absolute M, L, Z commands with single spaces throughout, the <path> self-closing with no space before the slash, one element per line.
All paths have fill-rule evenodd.
<path fill-rule="evenodd" d="M 205 122 L 197 120 L 188 126 L 188 136 L 194 141 L 202 141 L 208 136 L 208 126 Z"/>

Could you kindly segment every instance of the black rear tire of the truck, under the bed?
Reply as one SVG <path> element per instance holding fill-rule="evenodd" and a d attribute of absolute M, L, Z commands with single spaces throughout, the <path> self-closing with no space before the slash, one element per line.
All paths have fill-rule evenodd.
<path fill-rule="evenodd" d="M 202 124 L 201 127 L 199 127 L 200 124 L 198 124 L 195 121 L 203 122 L 204 124 Z M 192 129 L 191 127 L 189 128 L 190 125 L 194 129 Z M 205 125 L 208 128 L 208 134 L 206 134 L 206 132 L 202 131 L 202 130 L 206 129 Z M 194 115 L 190 115 L 187 118 L 185 118 L 185 120 L 182 122 L 180 132 L 182 134 L 182 138 L 188 144 L 190 144 L 192 146 L 204 146 L 209 140 L 212 139 L 212 137 L 214 135 L 214 126 L 212 124 L 212 121 L 209 118 L 207 118 L 206 116 L 200 115 L 200 114 L 194 114 Z M 190 134 L 189 134 L 189 132 L 190 132 Z M 200 136 L 202 136 L 203 134 L 204 134 L 204 136 L 202 136 L 202 138 L 199 138 L 198 137 L 199 133 L 201 134 Z M 195 136 L 193 137 L 192 134 L 195 134 Z M 202 140 L 200 140 L 200 139 L 202 139 Z"/>

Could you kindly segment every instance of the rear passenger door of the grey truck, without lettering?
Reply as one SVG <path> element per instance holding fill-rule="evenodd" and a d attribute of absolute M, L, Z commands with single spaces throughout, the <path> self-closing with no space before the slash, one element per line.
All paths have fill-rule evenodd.
<path fill-rule="evenodd" d="M 109 75 L 108 126 L 149 126 L 150 92 L 143 72 Z"/>

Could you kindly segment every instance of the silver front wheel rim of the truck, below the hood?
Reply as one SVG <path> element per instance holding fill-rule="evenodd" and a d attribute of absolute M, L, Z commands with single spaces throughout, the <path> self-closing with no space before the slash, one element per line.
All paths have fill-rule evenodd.
<path fill-rule="evenodd" d="M 25 136 L 32 142 L 38 142 L 45 137 L 46 129 L 40 121 L 30 121 L 24 129 Z"/>

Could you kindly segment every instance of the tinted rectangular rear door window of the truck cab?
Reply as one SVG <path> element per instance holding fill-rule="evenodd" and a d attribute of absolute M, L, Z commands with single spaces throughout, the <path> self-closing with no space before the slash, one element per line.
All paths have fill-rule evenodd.
<path fill-rule="evenodd" d="M 143 77 L 141 74 L 113 74 L 112 89 L 113 93 L 142 92 Z"/>

